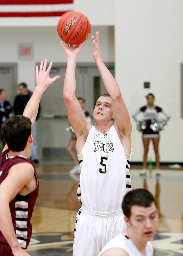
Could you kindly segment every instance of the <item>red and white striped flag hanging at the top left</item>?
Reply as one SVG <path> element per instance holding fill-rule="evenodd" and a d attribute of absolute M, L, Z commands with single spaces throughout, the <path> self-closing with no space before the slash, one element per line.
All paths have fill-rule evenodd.
<path fill-rule="evenodd" d="M 0 0 L 0 17 L 62 16 L 74 0 Z"/>

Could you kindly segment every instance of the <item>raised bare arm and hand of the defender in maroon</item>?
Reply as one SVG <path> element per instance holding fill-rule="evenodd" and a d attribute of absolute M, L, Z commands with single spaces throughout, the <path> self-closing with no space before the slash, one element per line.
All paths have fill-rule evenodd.
<path fill-rule="evenodd" d="M 23 115 L 30 118 L 32 125 L 34 124 L 36 116 L 38 114 L 38 107 L 43 93 L 49 85 L 51 85 L 52 83 L 54 83 L 54 81 L 60 78 L 59 75 L 55 76 L 54 78 L 49 77 L 49 72 L 52 68 L 52 64 L 53 63 L 51 61 L 48 68 L 46 69 L 47 59 L 45 59 L 44 64 L 43 61 L 41 61 L 39 69 L 38 66 L 36 66 L 36 87 L 23 111 Z"/>

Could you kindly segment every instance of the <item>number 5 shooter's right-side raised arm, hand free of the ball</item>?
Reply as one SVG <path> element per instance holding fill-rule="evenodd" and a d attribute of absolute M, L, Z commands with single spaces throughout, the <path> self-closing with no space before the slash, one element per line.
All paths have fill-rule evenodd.
<path fill-rule="evenodd" d="M 116 80 L 113 78 L 113 75 L 110 73 L 110 71 L 102 61 L 102 57 L 100 55 L 100 47 L 99 47 L 99 32 L 96 32 L 96 38 L 92 36 L 91 39 L 93 44 L 93 58 L 100 71 L 106 90 L 111 96 L 113 101 L 112 109 L 113 109 L 113 116 L 115 119 L 114 126 L 117 129 L 119 129 L 120 132 L 123 132 L 123 136 L 130 137 L 131 135 L 130 116 Z"/>

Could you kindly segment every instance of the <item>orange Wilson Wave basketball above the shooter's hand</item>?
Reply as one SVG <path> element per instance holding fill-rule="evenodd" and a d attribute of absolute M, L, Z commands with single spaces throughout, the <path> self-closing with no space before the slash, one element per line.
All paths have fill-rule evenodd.
<path fill-rule="evenodd" d="M 57 31 L 59 37 L 67 44 L 79 45 L 88 38 L 91 24 L 83 13 L 70 11 L 59 19 Z"/>

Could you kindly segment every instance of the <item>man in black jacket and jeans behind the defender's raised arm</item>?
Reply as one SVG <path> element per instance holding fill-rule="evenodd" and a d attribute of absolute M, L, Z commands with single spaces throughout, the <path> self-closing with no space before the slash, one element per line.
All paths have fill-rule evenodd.
<path fill-rule="evenodd" d="M 18 94 L 15 97 L 13 109 L 14 109 L 15 115 L 22 115 L 23 110 L 24 110 L 25 106 L 27 105 L 27 102 L 29 101 L 30 97 L 32 96 L 32 92 L 27 89 L 26 83 L 20 83 L 18 85 L 18 89 L 20 91 L 20 94 Z M 39 118 L 40 110 L 41 110 L 41 107 L 39 105 L 36 120 L 38 120 L 38 118 Z M 36 121 L 35 121 L 34 125 L 32 126 L 32 135 L 33 135 L 34 140 L 33 140 L 33 146 L 32 146 L 30 156 L 31 156 L 31 160 L 34 162 L 34 164 L 38 164 L 39 160 L 38 160 L 38 153 L 37 153 L 38 145 L 37 145 L 37 141 L 36 141 L 36 139 L 37 139 L 37 122 Z"/>

